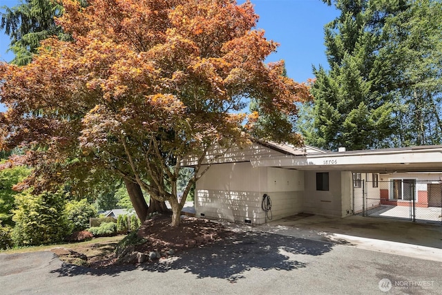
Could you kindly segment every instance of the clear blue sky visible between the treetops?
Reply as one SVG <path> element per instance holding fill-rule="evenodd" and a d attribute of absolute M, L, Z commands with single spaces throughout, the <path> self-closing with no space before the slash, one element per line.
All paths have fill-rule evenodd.
<path fill-rule="evenodd" d="M 238 1 L 242 3 L 244 1 Z M 297 82 L 313 78 L 311 66 L 328 67 L 325 57 L 324 25 L 332 21 L 338 11 L 321 0 L 252 0 L 260 15 L 258 28 L 265 30 L 267 39 L 280 44 L 278 52 L 268 61 L 284 59 L 289 77 Z M 0 0 L 0 6 L 16 6 L 19 0 Z M 0 60 L 10 61 L 6 53 L 9 37 L 0 32 Z M 0 111 L 4 108 L 0 105 Z"/>

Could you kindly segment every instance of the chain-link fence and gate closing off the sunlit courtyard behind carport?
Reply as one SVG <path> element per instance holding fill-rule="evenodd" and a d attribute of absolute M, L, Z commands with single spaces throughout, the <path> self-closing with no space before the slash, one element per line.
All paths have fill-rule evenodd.
<path fill-rule="evenodd" d="M 442 225 L 441 196 L 442 184 L 438 181 L 415 178 L 361 180 L 361 187 L 354 187 L 354 213 Z"/>

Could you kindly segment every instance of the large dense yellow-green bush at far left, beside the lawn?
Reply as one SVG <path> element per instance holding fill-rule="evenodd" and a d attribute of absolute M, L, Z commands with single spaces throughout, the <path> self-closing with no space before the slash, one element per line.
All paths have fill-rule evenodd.
<path fill-rule="evenodd" d="M 32 189 L 15 196 L 13 210 L 15 227 L 12 240 L 17 246 L 46 245 L 60 242 L 69 234 L 65 194 L 44 191 L 38 195 Z"/>

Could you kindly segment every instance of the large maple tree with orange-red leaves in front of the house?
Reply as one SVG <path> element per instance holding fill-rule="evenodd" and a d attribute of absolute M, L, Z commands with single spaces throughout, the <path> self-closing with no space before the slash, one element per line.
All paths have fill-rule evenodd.
<path fill-rule="evenodd" d="M 1 147 L 26 146 L 33 185 L 48 187 L 73 171 L 111 171 L 169 201 L 176 226 L 189 190 L 210 166 L 203 164 L 209 149 L 257 134 L 300 142 L 289 120 L 296 102 L 311 98 L 308 88 L 283 77 L 282 61 L 265 64 L 277 44 L 254 29 L 258 15 L 249 1 L 61 3 L 57 22 L 73 41 L 46 39 L 27 66 L 0 64 L 8 107 L 0 113 Z M 251 100 L 259 113 L 245 111 Z M 179 200 L 177 179 L 189 157 L 198 164 Z M 144 220 L 146 202 L 131 200 Z"/>

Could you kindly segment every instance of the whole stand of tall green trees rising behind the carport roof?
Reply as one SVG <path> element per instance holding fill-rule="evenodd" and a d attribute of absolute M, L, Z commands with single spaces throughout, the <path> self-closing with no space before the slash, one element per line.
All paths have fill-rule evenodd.
<path fill-rule="evenodd" d="M 329 4 L 332 1 L 325 1 Z M 323 149 L 441 143 L 440 1 L 336 0 L 300 130 Z"/>

